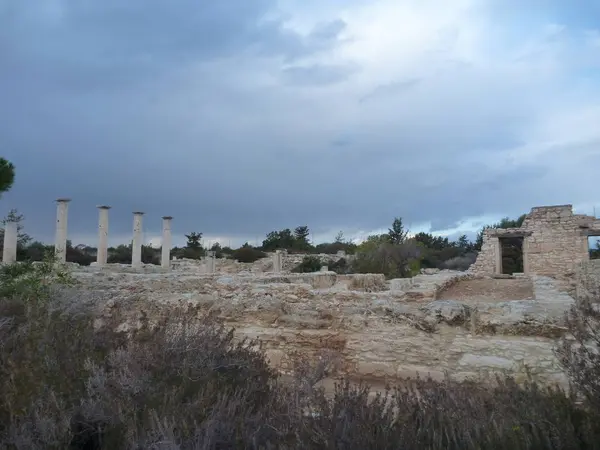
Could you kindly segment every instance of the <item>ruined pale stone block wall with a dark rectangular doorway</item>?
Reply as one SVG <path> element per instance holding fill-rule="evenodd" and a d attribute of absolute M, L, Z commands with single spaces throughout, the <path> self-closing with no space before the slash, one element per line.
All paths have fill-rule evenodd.
<path fill-rule="evenodd" d="M 520 241 L 523 272 L 569 275 L 589 260 L 588 237 L 600 236 L 600 219 L 573 214 L 572 205 L 537 206 L 520 228 L 488 229 L 471 271 L 477 275 L 503 273 L 503 241 Z"/>

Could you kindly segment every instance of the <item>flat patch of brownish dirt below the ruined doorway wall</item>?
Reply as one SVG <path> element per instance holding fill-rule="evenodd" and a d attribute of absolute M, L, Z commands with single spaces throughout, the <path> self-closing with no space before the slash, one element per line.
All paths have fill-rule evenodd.
<path fill-rule="evenodd" d="M 533 283 L 528 279 L 478 279 L 459 281 L 438 294 L 438 300 L 505 302 L 534 299 Z"/>

